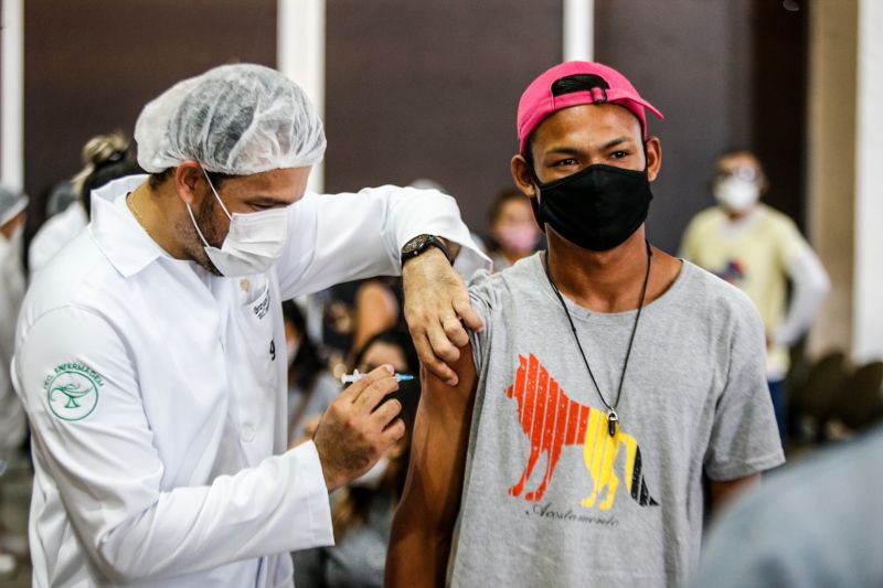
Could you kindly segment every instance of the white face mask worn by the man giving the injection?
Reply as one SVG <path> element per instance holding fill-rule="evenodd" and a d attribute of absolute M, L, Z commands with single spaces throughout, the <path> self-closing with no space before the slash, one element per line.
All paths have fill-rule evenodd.
<path fill-rule="evenodd" d="M 212 185 L 209 173 L 204 168 L 202 172 L 205 173 L 205 180 L 209 182 L 209 188 L 212 189 L 214 197 L 217 199 L 224 214 L 230 218 L 230 231 L 219 249 L 209 245 L 209 242 L 205 240 L 190 204 L 187 205 L 190 220 L 193 221 L 193 226 L 196 227 L 196 233 L 202 239 L 209 259 L 212 260 L 212 264 L 221 274 L 227 277 L 249 276 L 267 271 L 281 257 L 285 245 L 288 242 L 288 210 L 270 209 L 268 211 L 248 214 L 233 213 L 231 215 L 221 201 L 221 196 L 217 195 L 217 191 Z"/>

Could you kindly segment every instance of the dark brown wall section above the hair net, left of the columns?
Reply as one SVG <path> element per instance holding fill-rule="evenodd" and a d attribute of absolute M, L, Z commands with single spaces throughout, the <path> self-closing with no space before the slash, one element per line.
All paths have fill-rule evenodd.
<path fill-rule="evenodd" d="M 172 83 L 226 62 L 276 64 L 276 0 L 28 0 L 25 189 L 33 231 L 46 191 L 82 168 L 89 137 L 131 137 L 141 107 Z"/>

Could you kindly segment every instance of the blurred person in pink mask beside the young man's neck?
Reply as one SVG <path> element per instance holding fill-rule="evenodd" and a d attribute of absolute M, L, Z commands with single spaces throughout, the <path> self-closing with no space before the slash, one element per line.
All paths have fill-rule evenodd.
<path fill-rule="evenodd" d="M 533 216 L 530 199 L 515 190 L 501 190 L 488 215 L 488 255 L 500 271 L 536 250 L 542 232 Z"/>

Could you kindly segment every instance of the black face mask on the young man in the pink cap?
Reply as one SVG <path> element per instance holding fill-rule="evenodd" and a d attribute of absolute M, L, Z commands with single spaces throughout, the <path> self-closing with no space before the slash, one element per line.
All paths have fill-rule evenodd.
<path fill-rule="evenodd" d="M 533 173 L 533 170 L 531 170 Z M 592 252 L 606 252 L 629 238 L 650 210 L 647 171 L 595 164 L 554 182 L 541 183 L 540 226 Z"/>

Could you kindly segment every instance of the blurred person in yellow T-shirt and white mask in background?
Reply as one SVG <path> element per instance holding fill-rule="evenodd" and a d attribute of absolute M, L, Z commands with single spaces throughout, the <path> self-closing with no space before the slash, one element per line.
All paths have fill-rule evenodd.
<path fill-rule="evenodd" d="M 760 202 L 767 189 L 754 153 L 723 153 L 712 183 L 717 205 L 690 222 L 681 257 L 737 287 L 757 307 L 766 332 L 767 384 L 779 435 L 786 440 L 788 348 L 809 330 L 830 282 L 794 221 Z"/>

